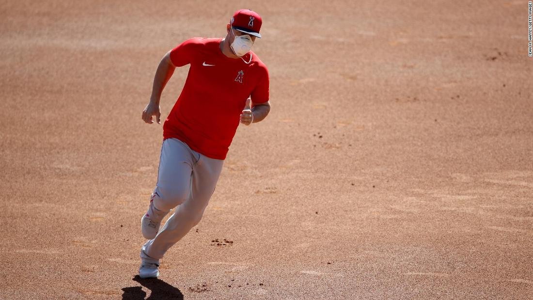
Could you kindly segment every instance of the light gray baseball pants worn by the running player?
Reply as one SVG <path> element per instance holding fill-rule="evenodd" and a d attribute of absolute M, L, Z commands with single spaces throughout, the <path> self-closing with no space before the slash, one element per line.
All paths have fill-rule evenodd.
<path fill-rule="evenodd" d="M 209 158 L 178 139 L 161 147 L 154 206 L 163 212 L 175 209 L 157 236 L 141 249 L 143 261 L 159 263 L 167 250 L 196 226 L 215 191 L 224 160 Z"/>

